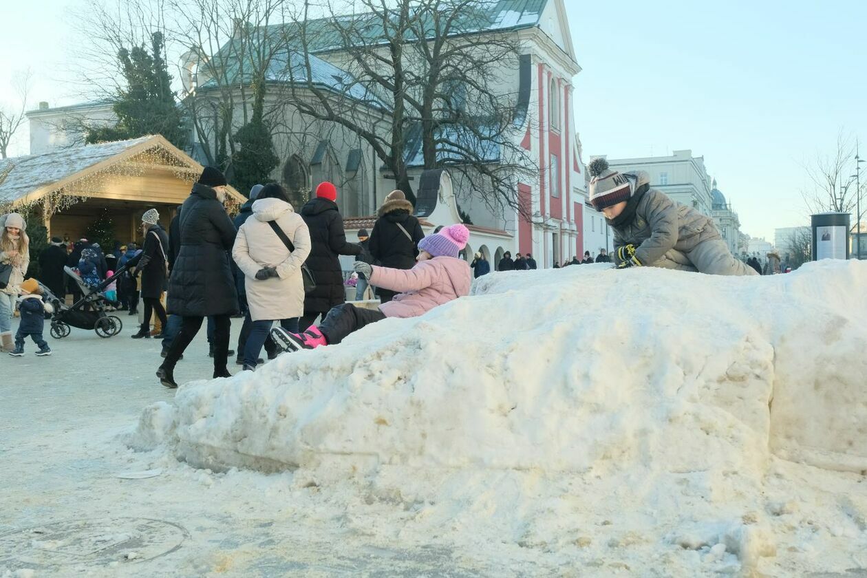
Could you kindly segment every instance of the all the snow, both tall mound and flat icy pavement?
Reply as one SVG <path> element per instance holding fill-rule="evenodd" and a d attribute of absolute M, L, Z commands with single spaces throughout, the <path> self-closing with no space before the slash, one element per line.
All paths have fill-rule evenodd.
<path fill-rule="evenodd" d="M 0 366 L 0 575 L 867 575 L 864 288 L 498 274 L 176 396 L 76 332 Z"/>

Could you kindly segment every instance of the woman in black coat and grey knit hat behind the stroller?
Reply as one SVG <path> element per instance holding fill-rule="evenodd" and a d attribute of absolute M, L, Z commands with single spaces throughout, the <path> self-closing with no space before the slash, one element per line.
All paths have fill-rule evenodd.
<path fill-rule="evenodd" d="M 133 339 L 150 337 L 152 314 L 156 314 L 162 327 L 166 327 L 166 309 L 163 308 L 160 297 L 166 289 L 168 235 L 160 227 L 159 220 L 160 214 L 156 209 L 148 209 L 141 216 L 145 242 L 138 257 L 131 261 L 135 272 L 141 274 L 141 301 L 145 304 L 145 320 L 141 323 L 139 333 L 133 335 Z"/>

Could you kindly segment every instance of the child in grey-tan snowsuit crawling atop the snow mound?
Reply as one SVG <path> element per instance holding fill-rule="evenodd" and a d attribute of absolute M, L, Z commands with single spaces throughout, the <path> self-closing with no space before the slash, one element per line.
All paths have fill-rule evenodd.
<path fill-rule="evenodd" d="M 714 222 L 651 189 L 647 172 L 616 172 L 590 163 L 590 203 L 614 229 L 618 269 L 649 265 L 710 275 L 756 275 L 732 257 Z"/>

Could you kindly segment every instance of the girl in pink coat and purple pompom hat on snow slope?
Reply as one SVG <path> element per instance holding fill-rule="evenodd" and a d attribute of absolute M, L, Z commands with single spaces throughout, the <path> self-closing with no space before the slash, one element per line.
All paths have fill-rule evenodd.
<path fill-rule="evenodd" d="M 319 327 L 310 327 L 302 334 L 289 333 L 283 328 L 271 329 L 274 341 L 284 349 L 298 351 L 336 344 L 370 323 L 386 317 L 416 317 L 437 305 L 470 294 L 473 274 L 458 253 L 466 246 L 470 231 L 462 224 L 444 227 L 439 233 L 419 241 L 418 263 L 410 270 L 389 269 L 355 262 L 355 271 L 363 273 L 371 285 L 397 291 L 379 309 L 356 308 L 342 303 L 331 308 Z"/>

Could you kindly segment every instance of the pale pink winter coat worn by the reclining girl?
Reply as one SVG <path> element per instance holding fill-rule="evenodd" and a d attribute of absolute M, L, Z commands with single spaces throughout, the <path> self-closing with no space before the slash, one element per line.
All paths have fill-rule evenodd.
<path fill-rule="evenodd" d="M 373 266 L 370 284 L 382 289 L 400 291 L 388 303 L 380 305 L 386 317 L 417 317 L 442 305 L 470 294 L 473 274 L 470 266 L 454 257 L 433 257 L 415 263 L 410 270 Z"/>

